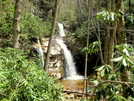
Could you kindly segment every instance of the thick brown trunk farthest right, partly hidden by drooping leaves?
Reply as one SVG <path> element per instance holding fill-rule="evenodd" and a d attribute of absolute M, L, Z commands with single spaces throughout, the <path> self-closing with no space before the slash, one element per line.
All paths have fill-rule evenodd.
<path fill-rule="evenodd" d="M 119 10 L 124 12 L 124 5 L 123 5 L 123 0 L 115 0 L 116 3 L 116 12 L 118 13 Z M 119 21 L 117 22 L 117 39 L 118 39 L 118 44 L 124 44 L 125 43 L 125 22 L 124 22 L 124 15 L 119 17 Z M 128 82 L 128 73 L 127 69 L 124 67 L 123 72 L 120 74 L 121 81 L 123 82 Z M 122 96 L 126 99 L 128 99 L 128 94 L 126 93 L 126 85 L 122 84 Z"/>

